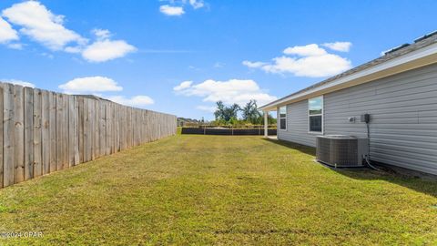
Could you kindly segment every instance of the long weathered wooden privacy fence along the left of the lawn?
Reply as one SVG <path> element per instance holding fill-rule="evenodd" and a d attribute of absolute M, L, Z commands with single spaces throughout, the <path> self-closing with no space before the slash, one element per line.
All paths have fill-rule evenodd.
<path fill-rule="evenodd" d="M 0 188 L 176 134 L 176 116 L 0 83 Z"/>

